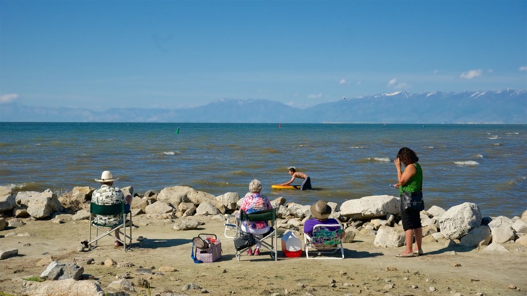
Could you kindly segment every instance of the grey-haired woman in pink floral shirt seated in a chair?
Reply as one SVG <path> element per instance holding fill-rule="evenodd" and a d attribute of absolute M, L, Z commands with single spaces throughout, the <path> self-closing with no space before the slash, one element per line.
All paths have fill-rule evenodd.
<path fill-rule="evenodd" d="M 261 195 L 260 192 L 262 191 L 262 184 L 260 181 L 254 179 L 249 184 L 249 191 L 245 197 L 243 198 L 243 201 L 240 205 L 240 210 L 243 210 L 244 212 L 250 214 L 254 212 L 264 211 L 264 210 L 270 210 L 272 209 L 272 205 L 269 202 L 269 199 L 267 199 L 267 196 Z M 237 215 L 239 218 L 239 214 Z M 256 236 L 256 238 L 262 239 L 264 237 L 264 233 L 269 232 L 270 227 L 267 221 L 243 221 L 241 223 L 241 231 L 243 232 L 250 232 L 252 235 Z M 260 246 L 261 243 L 257 242 L 255 245 L 255 255 L 260 255 Z M 252 248 L 249 248 L 247 251 L 248 255 L 252 255 Z"/>

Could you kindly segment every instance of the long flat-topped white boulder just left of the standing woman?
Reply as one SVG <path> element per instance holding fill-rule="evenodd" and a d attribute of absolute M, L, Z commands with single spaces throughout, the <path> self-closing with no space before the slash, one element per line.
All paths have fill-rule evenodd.
<path fill-rule="evenodd" d="M 401 200 L 391 195 L 373 195 L 348 200 L 340 205 L 340 215 L 352 220 L 383 218 L 387 214 L 396 215 L 400 211 Z"/>

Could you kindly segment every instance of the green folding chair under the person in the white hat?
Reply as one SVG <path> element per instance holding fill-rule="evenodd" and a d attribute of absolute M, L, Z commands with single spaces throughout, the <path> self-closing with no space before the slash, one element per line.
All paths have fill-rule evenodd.
<path fill-rule="evenodd" d="M 97 247 L 97 242 L 102 239 L 104 236 L 108 235 L 114 238 L 116 241 L 119 241 L 123 244 L 123 249 L 126 252 L 132 246 L 132 212 L 124 211 L 124 203 L 117 204 L 96 204 L 90 203 L 90 230 L 88 238 L 88 250 L 95 249 Z M 95 217 L 97 215 L 110 216 L 110 215 L 122 215 L 122 222 L 106 225 L 95 222 Z M 126 216 L 129 215 L 129 219 L 126 219 Z M 126 226 L 128 225 L 128 226 Z M 95 228 L 95 238 L 92 240 L 92 227 Z M 129 228 L 130 235 L 126 234 L 126 228 Z M 110 230 L 108 230 L 110 229 Z M 121 231 L 122 230 L 122 231 Z M 103 232 L 99 234 L 99 231 Z M 114 231 L 119 231 L 119 234 L 122 235 L 123 239 L 117 239 L 113 233 Z M 128 243 L 126 241 L 128 240 Z M 94 244 L 92 246 L 92 244 Z"/>

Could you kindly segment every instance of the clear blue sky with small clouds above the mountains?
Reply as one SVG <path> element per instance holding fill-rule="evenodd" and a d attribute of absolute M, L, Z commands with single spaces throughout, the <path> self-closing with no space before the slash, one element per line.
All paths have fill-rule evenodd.
<path fill-rule="evenodd" d="M 527 1 L 0 0 L 0 103 L 305 108 L 503 88 L 527 88 Z"/>

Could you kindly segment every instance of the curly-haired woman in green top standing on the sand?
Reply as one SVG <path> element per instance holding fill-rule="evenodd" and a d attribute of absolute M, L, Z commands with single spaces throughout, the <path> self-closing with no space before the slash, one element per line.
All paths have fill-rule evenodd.
<path fill-rule="evenodd" d="M 422 190 L 423 171 L 421 170 L 421 165 L 417 163 L 418 161 L 419 157 L 417 157 L 412 149 L 407 147 L 402 147 L 399 150 L 397 159 L 394 161 L 398 180 L 398 183 L 394 184 L 394 187 L 399 189 L 399 195 L 401 195 L 401 219 L 403 221 L 406 241 L 406 249 L 403 253 L 398 254 L 397 257 L 413 257 L 414 255 L 423 254 L 423 249 L 421 249 L 421 243 L 423 241 L 421 216 L 417 210 L 404 210 L 403 198 L 403 192 L 419 192 Z M 404 171 L 401 170 L 401 163 L 405 166 Z M 412 249 L 414 236 L 417 249 Z"/>

